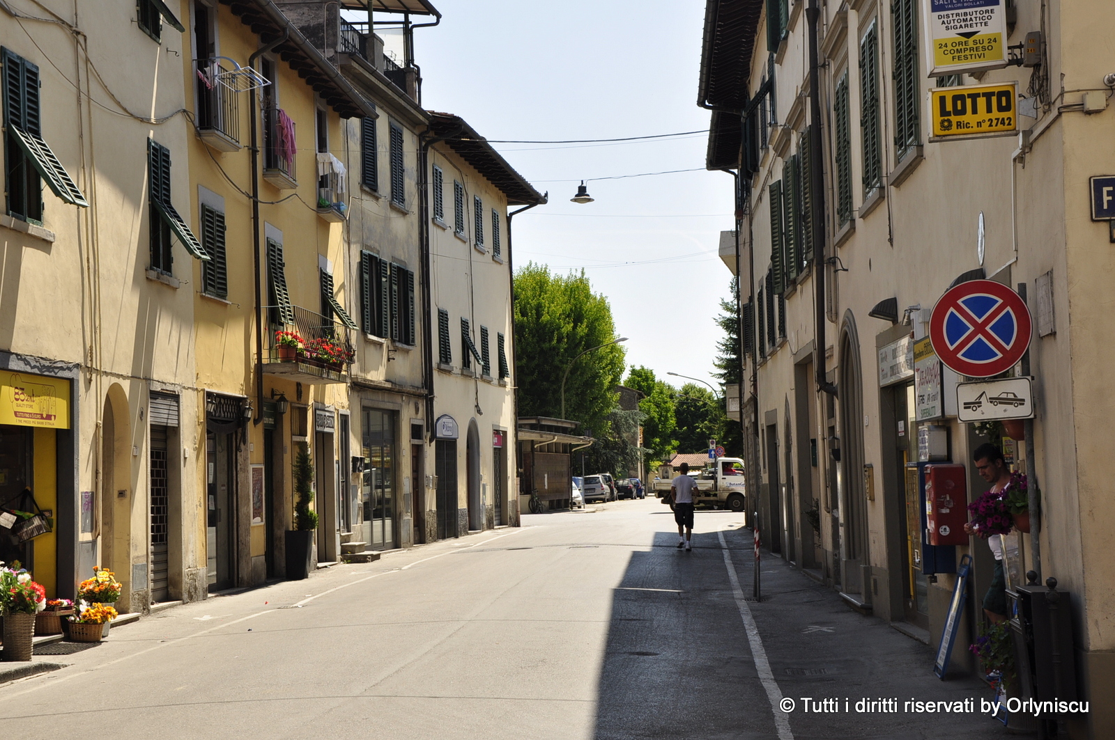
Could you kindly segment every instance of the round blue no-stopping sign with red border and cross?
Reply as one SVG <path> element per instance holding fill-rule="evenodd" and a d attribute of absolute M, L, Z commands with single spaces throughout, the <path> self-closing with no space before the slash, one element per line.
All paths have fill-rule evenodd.
<path fill-rule="evenodd" d="M 1022 358 L 1030 327 L 1018 293 L 993 280 L 972 280 L 948 290 L 933 306 L 929 339 L 950 370 L 990 378 Z"/>

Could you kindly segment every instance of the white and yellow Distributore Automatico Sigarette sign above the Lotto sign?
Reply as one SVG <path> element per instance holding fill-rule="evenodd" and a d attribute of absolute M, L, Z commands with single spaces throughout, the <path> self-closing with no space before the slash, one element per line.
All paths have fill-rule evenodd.
<path fill-rule="evenodd" d="M 922 0 L 929 77 L 1007 66 L 1006 0 Z"/>

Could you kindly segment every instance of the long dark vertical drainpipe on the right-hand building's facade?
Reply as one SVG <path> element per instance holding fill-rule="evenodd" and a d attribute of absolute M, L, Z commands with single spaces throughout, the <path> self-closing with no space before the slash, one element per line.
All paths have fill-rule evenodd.
<path fill-rule="evenodd" d="M 816 290 L 814 299 L 814 360 L 813 369 L 816 373 L 817 390 L 836 396 L 836 386 L 828 382 L 825 374 L 825 179 L 823 167 L 820 166 L 824 158 L 824 149 L 821 144 L 821 66 L 817 64 L 817 22 L 821 18 L 821 9 L 817 0 L 809 0 L 809 6 L 805 10 L 805 17 L 809 21 L 807 33 L 809 35 L 809 191 L 813 196 L 813 282 Z"/>

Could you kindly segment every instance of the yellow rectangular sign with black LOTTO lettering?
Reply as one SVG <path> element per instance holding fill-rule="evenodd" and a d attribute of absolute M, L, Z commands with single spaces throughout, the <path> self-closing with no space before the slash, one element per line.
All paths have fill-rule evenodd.
<path fill-rule="evenodd" d="M 929 91 L 933 136 L 1012 134 L 1018 130 L 1017 84 L 939 87 Z"/>

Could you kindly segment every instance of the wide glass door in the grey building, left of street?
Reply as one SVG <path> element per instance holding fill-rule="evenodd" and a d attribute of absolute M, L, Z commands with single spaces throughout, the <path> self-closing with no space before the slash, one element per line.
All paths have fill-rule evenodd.
<path fill-rule="evenodd" d="M 363 438 L 363 520 L 371 527 L 369 547 L 390 549 L 398 547 L 395 516 L 396 440 L 395 411 L 365 408 L 362 412 Z"/>

